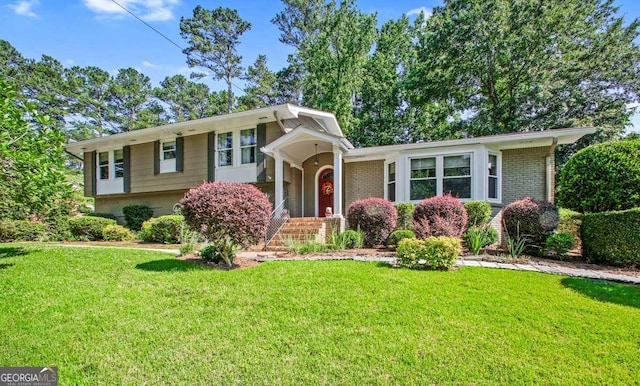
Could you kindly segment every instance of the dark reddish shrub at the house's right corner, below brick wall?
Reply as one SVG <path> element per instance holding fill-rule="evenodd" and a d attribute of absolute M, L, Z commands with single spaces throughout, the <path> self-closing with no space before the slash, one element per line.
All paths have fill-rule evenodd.
<path fill-rule="evenodd" d="M 527 197 L 507 205 L 502 211 L 502 222 L 511 238 L 526 237 L 528 244 L 543 246 L 558 227 L 560 214 L 552 203 Z"/>

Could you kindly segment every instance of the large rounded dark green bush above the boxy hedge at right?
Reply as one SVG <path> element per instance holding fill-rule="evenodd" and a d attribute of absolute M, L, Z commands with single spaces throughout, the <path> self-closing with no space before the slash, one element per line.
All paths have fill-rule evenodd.
<path fill-rule="evenodd" d="M 586 147 L 562 168 L 558 202 L 581 213 L 640 206 L 640 140 Z"/>

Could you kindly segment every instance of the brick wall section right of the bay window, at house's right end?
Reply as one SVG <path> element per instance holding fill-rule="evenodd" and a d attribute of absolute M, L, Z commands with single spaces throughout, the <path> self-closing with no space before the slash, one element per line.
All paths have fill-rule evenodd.
<path fill-rule="evenodd" d="M 503 150 L 502 203 L 505 206 L 525 197 L 546 199 L 548 151 L 548 147 Z"/>

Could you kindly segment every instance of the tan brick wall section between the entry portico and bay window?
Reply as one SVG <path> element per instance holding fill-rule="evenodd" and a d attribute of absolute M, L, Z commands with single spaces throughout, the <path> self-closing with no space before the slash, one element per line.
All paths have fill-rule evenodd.
<path fill-rule="evenodd" d="M 344 165 L 344 208 L 369 197 L 384 198 L 384 161 L 352 162 Z"/>

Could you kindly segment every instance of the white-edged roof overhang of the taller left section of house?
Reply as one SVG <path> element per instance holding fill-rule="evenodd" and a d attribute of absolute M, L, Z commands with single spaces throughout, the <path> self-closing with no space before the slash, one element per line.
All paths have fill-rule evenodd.
<path fill-rule="evenodd" d="M 315 129 L 321 129 L 331 135 L 343 137 L 342 130 L 338 125 L 335 115 L 307 107 L 283 104 L 73 142 L 67 145 L 67 151 L 83 153 L 99 149 L 171 139 L 178 136 L 203 134 L 210 131 L 229 130 L 243 126 L 255 126 L 258 123 L 275 122 L 277 120 L 282 123 L 282 121 L 294 119 L 301 119 L 306 123 L 313 121 L 315 122 Z"/>

